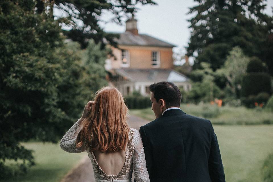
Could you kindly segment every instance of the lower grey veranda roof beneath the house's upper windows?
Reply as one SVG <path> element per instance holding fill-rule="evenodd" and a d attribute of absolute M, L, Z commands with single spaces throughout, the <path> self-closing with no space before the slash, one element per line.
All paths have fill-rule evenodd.
<path fill-rule="evenodd" d="M 187 76 L 172 69 L 115 69 L 118 75 L 134 82 L 187 82 Z"/>

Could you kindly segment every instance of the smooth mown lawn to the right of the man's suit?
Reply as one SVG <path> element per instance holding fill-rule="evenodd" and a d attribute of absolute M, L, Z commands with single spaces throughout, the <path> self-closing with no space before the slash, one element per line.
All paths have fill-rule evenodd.
<path fill-rule="evenodd" d="M 273 152 L 273 125 L 214 125 L 227 182 L 262 182 L 265 158 Z"/>

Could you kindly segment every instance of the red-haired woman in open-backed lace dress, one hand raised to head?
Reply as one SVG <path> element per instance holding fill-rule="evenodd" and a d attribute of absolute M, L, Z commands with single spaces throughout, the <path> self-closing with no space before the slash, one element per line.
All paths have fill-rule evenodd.
<path fill-rule="evenodd" d="M 127 124 L 123 96 L 113 87 L 101 88 L 84 107 L 82 117 L 60 142 L 66 152 L 87 152 L 96 182 L 150 181 L 140 133 Z"/>

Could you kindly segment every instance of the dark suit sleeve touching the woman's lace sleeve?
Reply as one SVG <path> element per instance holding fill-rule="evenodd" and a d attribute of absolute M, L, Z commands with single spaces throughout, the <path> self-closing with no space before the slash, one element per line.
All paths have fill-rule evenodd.
<path fill-rule="evenodd" d="M 148 171 L 149 177 L 151 179 L 152 166 L 153 166 L 153 164 L 152 164 L 152 150 L 149 146 L 148 139 L 147 139 L 147 136 L 146 136 L 146 133 L 145 133 L 145 130 L 143 127 L 140 127 L 139 133 L 141 135 L 142 143 L 143 143 L 143 147 L 144 147 L 144 154 L 145 154 L 147 171 Z"/>

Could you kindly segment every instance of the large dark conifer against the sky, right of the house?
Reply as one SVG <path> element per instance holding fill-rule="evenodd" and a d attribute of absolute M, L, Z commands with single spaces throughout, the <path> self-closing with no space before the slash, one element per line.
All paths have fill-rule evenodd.
<path fill-rule="evenodd" d="M 194 68 L 208 62 L 216 70 L 224 65 L 235 46 L 248 56 L 263 60 L 273 75 L 273 17 L 263 12 L 263 0 L 195 0 L 188 56 L 196 57 Z M 197 54 L 195 54 L 197 53 Z"/>

